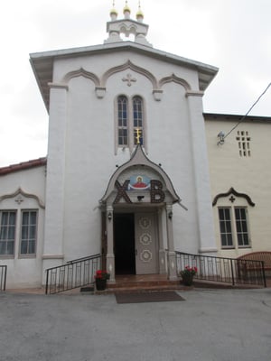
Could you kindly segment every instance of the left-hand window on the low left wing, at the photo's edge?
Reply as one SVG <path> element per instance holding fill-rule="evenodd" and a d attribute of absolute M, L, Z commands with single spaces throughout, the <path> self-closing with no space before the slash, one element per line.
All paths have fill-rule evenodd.
<path fill-rule="evenodd" d="M 16 212 L 1 211 L 0 255 L 14 255 Z"/>

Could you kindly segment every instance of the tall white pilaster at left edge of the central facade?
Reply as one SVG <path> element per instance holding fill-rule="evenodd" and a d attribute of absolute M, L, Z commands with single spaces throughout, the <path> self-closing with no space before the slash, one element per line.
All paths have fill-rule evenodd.
<path fill-rule="evenodd" d="M 65 143 L 67 116 L 66 86 L 51 84 L 46 175 L 46 208 L 43 245 L 43 274 L 60 265 L 63 255 Z"/>

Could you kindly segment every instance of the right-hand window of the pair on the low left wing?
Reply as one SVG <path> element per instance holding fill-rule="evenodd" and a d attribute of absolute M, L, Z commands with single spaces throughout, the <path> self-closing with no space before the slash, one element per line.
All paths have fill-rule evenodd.
<path fill-rule="evenodd" d="M 21 228 L 21 255 L 34 255 L 36 253 L 37 237 L 37 211 L 22 211 Z"/>

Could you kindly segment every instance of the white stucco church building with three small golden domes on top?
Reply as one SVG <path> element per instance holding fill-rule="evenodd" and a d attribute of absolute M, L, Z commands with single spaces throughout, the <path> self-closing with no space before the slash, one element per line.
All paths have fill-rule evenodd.
<path fill-rule="evenodd" d="M 101 45 L 30 55 L 48 154 L 0 168 L 7 287 L 88 255 L 105 255 L 115 282 L 176 279 L 175 251 L 271 251 L 271 118 L 247 116 L 224 140 L 241 116 L 202 107 L 218 69 L 154 49 L 141 10 L 123 14 Z"/>

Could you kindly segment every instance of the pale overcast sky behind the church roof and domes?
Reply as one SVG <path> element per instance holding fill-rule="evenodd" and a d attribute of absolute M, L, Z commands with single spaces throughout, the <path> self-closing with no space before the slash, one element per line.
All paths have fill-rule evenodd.
<path fill-rule="evenodd" d="M 47 153 L 48 114 L 29 53 L 101 44 L 112 0 L 14 0 L 1 6 L 0 166 Z M 125 0 L 116 0 L 118 18 Z M 135 19 L 137 0 L 128 0 Z M 271 82 L 270 0 L 141 0 L 154 48 L 220 69 L 204 112 L 239 114 Z M 251 115 L 271 116 L 271 88 Z M 225 129 L 227 131 L 227 129 Z"/>

